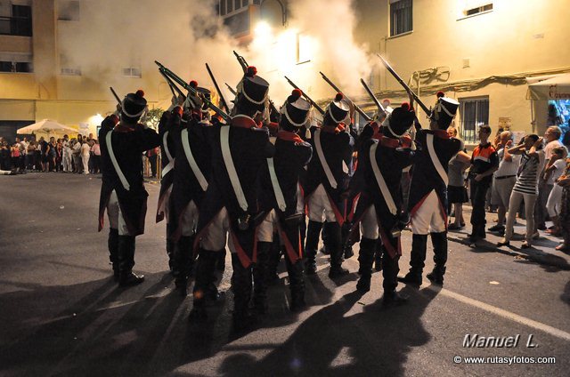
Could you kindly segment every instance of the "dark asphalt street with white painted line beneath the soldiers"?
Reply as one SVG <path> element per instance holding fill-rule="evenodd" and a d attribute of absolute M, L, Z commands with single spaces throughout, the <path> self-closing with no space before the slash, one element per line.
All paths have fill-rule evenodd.
<path fill-rule="evenodd" d="M 220 277 L 224 300 L 208 308 L 208 322 L 188 320 L 191 295 L 175 293 L 165 224 L 154 223 L 156 183 L 147 184 L 146 233 L 136 240 L 134 270 L 146 280 L 118 288 L 108 229 L 97 233 L 100 187 L 97 175 L 0 176 L 1 376 L 568 375 L 570 257 L 554 251 L 554 238 L 533 249 L 519 249 L 520 241 L 498 249 L 498 237 L 471 247 L 465 233 L 450 233 L 444 288 L 428 280 L 419 290 L 399 285 L 410 300 L 387 309 L 381 272 L 371 292 L 355 293 L 357 246 L 345 261 L 351 274 L 335 282 L 327 277 L 328 257 L 319 254 L 318 274 L 306 279 L 304 312 L 289 312 L 281 266 L 265 319 L 235 333 L 231 267 Z M 487 214 L 490 225 L 494 218 Z M 401 275 L 410 248 L 404 231 Z M 432 255 L 428 246 L 426 272 Z M 464 347 L 475 334 L 519 341 L 514 348 Z M 538 364 L 539 357 L 554 359 Z"/>

